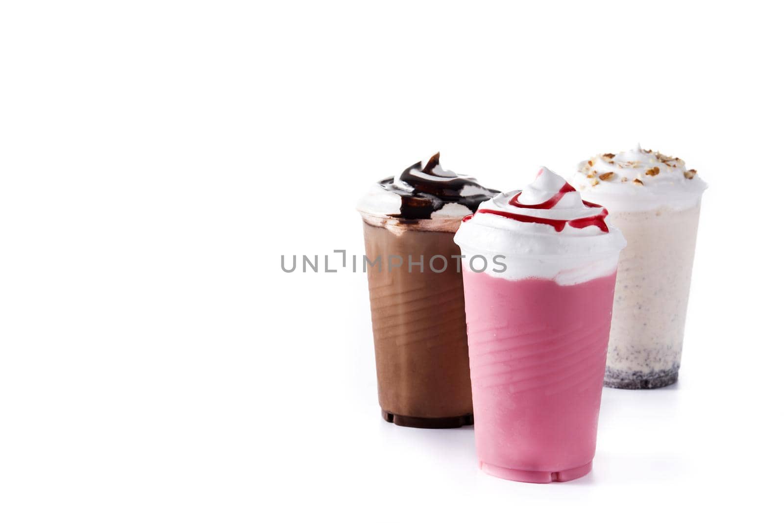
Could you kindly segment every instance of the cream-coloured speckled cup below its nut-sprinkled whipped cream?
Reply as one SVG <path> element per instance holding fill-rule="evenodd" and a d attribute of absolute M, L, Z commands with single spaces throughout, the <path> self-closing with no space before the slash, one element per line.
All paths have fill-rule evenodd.
<path fill-rule="evenodd" d="M 628 245 L 618 264 L 604 385 L 655 389 L 678 379 L 691 266 L 699 222 L 695 205 L 613 211 Z"/>

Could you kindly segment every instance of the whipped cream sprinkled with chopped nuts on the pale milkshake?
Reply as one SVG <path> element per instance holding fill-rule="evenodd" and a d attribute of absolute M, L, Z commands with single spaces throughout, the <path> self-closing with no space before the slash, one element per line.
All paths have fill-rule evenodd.
<path fill-rule="evenodd" d="M 636 149 L 599 154 L 580 162 L 572 184 L 586 198 L 615 211 L 695 205 L 707 184 L 681 158 Z"/>

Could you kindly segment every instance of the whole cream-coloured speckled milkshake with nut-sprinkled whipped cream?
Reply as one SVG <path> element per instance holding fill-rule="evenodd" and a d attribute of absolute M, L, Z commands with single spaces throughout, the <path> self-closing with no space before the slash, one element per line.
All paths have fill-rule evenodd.
<path fill-rule="evenodd" d="M 638 146 L 581 162 L 572 184 L 609 210 L 628 242 L 619 260 L 604 385 L 675 383 L 706 183 L 681 158 Z"/>

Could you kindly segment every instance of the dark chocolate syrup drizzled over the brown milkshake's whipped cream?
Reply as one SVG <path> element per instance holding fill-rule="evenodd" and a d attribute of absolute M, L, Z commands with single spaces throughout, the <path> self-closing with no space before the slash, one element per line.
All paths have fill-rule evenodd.
<path fill-rule="evenodd" d="M 499 193 L 494 189 L 482 187 L 474 178 L 443 171 L 434 173 L 440 158 L 441 153 L 436 153 L 426 165 L 417 162 L 405 169 L 400 176 L 385 178 L 379 182 L 385 190 L 399 194 L 402 200 L 400 213 L 390 216 L 404 220 L 428 220 L 433 212 L 450 202 L 465 205 L 471 212 L 477 212 L 481 202 Z M 420 173 L 428 176 L 421 176 Z M 436 177 L 437 180 L 432 180 L 431 177 Z M 460 193 L 465 187 L 477 188 L 478 191 L 474 191 L 477 194 L 461 196 Z"/>

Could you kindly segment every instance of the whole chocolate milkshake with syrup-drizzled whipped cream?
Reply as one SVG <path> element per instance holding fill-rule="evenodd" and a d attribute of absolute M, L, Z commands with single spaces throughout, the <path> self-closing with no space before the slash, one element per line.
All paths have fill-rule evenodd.
<path fill-rule="evenodd" d="M 405 427 L 474 423 L 460 250 L 463 216 L 498 191 L 439 155 L 381 180 L 358 205 L 365 231 L 379 403 Z"/>

